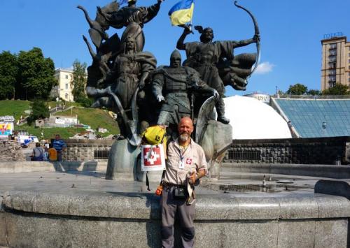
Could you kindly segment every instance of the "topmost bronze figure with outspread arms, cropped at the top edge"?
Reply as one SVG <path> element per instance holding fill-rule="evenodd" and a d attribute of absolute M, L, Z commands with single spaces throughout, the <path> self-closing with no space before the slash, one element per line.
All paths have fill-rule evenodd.
<path fill-rule="evenodd" d="M 137 0 L 132 0 L 129 1 L 127 7 L 120 8 L 120 10 L 111 13 L 101 11 L 100 13 L 106 18 L 111 27 L 116 29 L 126 27 L 121 38 L 122 41 L 125 37 L 132 36 L 137 44 L 137 52 L 141 52 L 145 45 L 144 31 L 142 31 L 144 24 L 151 21 L 158 14 L 162 0 L 158 0 L 157 3 L 149 7 L 137 7 L 136 3 Z"/>

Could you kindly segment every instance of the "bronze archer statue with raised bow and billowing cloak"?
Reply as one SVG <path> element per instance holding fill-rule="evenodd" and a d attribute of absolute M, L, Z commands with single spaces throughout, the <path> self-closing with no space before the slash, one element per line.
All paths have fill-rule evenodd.
<path fill-rule="evenodd" d="M 237 5 L 237 2 L 235 2 Z M 239 8 L 243 8 L 238 6 Z M 245 8 L 243 8 L 246 10 Z M 246 10 L 248 11 L 248 10 Z M 250 13 L 250 12 L 248 12 Z M 251 13 L 250 13 L 251 15 Z M 253 15 L 251 15 L 253 17 Z M 257 59 L 256 54 L 239 54 L 234 56 L 235 48 L 239 48 L 251 43 L 260 43 L 260 34 L 255 18 L 255 35 L 253 38 L 242 41 L 213 41 L 214 31 L 210 27 L 203 29 L 202 26 L 195 26 L 195 29 L 201 34 L 200 42 L 184 43 L 186 36 L 193 33 L 190 25 L 183 25 L 183 34 L 177 41 L 176 48 L 185 50 L 187 60 L 183 63 L 190 66 L 200 73 L 201 79 L 210 87 L 216 89 L 220 95 L 216 99 L 216 111 L 218 112 L 218 122 L 228 124 L 230 120 L 225 117 L 225 103 L 223 95 L 225 86 L 230 85 L 238 90 L 246 89 L 246 79 L 255 71 Z M 260 49 L 258 49 L 258 54 Z M 253 71 L 251 67 L 255 63 Z M 202 98 L 197 96 L 197 98 Z M 208 97 L 205 97 L 207 99 Z M 202 99 L 203 102 L 204 99 Z M 200 104 L 197 104 L 200 105 Z"/>

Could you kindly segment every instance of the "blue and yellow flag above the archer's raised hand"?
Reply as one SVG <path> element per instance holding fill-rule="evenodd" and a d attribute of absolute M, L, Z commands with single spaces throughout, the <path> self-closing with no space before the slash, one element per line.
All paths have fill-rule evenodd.
<path fill-rule="evenodd" d="M 169 10 L 169 17 L 173 26 L 179 26 L 190 22 L 193 17 L 193 9 L 195 8 L 195 0 L 182 0 L 176 3 Z"/>

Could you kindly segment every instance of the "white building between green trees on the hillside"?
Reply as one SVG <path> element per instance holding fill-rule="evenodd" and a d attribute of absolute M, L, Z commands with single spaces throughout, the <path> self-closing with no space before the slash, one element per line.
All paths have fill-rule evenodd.
<path fill-rule="evenodd" d="M 55 91 L 61 99 L 64 99 L 64 101 L 73 101 L 73 94 L 71 94 L 73 71 L 65 68 L 57 68 L 54 76 L 57 79 L 58 86 L 56 86 L 53 91 Z"/>

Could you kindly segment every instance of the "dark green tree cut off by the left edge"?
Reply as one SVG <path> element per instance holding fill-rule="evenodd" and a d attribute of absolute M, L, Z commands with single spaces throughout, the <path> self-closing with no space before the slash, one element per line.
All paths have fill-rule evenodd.
<path fill-rule="evenodd" d="M 0 53 L 0 100 L 15 98 L 15 84 L 18 74 L 17 57 L 3 51 Z"/>

